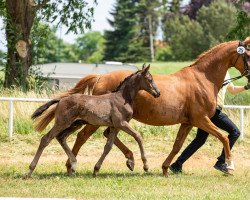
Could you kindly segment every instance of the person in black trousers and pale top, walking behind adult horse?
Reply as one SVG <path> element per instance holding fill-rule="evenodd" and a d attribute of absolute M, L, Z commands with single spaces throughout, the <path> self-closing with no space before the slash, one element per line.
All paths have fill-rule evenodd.
<path fill-rule="evenodd" d="M 230 75 L 227 72 L 225 80 L 230 79 Z M 245 90 L 250 89 L 250 83 L 245 86 L 235 86 L 232 82 L 228 85 L 221 88 L 217 96 L 217 107 L 214 116 L 211 118 L 211 121 L 220 129 L 228 133 L 230 149 L 234 146 L 236 140 L 240 136 L 240 131 L 237 126 L 233 123 L 231 119 L 222 111 L 224 106 L 224 99 L 226 91 L 231 94 L 238 94 Z M 177 158 L 177 160 L 169 166 L 169 169 L 173 173 L 181 173 L 182 165 L 200 148 L 207 140 L 208 133 L 202 129 L 197 129 L 197 134 L 194 140 L 184 149 L 182 154 Z M 222 149 L 221 155 L 217 158 L 217 162 L 214 165 L 214 168 L 228 173 L 227 164 L 225 163 L 225 153 Z"/>

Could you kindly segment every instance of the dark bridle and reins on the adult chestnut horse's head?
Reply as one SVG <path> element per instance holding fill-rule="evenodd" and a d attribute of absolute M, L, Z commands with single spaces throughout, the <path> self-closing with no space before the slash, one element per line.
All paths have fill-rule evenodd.
<path fill-rule="evenodd" d="M 244 42 L 240 41 L 239 45 L 237 47 L 238 57 L 234 62 L 234 66 L 237 63 L 239 57 L 242 56 L 242 59 L 243 59 L 243 62 L 244 62 L 244 72 L 240 76 L 225 80 L 223 82 L 223 84 L 222 84 L 222 87 L 229 84 L 229 83 L 231 83 L 231 82 L 233 82 L 233 81 L 235 81 L 235 80 L 238 80 L 238 79 L 240 79 L 240 78 L 242 78 L 244 76 L 248 76 L 250 74 L 250 67 L 249 67 L 249 65 L 247 63 L 247 58 L 246 58 L 247 57 L 247 55 L 246 55 L 247 50 L 249 51 L 250 49 L 244 45 Z"/>

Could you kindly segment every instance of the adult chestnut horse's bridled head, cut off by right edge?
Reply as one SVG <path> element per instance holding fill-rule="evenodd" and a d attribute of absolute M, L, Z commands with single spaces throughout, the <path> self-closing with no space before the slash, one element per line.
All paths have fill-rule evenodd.
<path fill-rule="evenodd" d="M 232 56 L 232 65 L 250 82 L 250 37 L 238 43 Z"/>

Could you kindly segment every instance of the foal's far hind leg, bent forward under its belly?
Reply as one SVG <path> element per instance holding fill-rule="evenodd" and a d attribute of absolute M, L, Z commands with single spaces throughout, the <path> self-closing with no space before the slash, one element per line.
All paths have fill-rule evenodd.
<path fill-rule="evenodd" d="M 69 128 L 65 129 L 59 135 L 56 136 L 56 139 L 58 140 L 58 142 L 64 149 L 65 153 L 69 157 L 69 161 L 71 164 L 71 173 L 68 175 L 72 175 L 75 173 L 77 160 L 76 160 L 75 155 L 72 153 L 71 149 L 69 148 L 68 144 L 66 143 L 66 139 L 71 133 L 79 129 L 82 126 L 82 124 L 83 123 L 81 121 L 75 121 Z"/>

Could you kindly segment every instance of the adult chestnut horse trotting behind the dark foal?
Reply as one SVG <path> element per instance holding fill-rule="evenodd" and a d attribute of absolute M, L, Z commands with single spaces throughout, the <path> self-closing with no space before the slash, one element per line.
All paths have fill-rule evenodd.
<path fill-rule="evenodd" d="M 217 137 L 224 146 L 228 169 L 233 173 L 234 165 L 228 138 L 210 120 L 215 113 L 217 94 L 222 87 L 224 77 L 230 67 L 235 67 L 243 75 L 248 74 L 250 52 L 247 46 L 250 37 L 245 41 L 230 41 L 219 44 L 201 54 L 190 66 L 170 75 L 155 75 L 154 80 L 161 91 L 161 96 L 152 98 L 145 92 L 139 92 L 134 103 L 133 118 L 149 125 L 162 126 L 181 123 L 173 149 L 162 164 L 163 175 L 168 175 L 168 167 L 174 156 L 181 149 L 187 134 L 192 127 L 198 127 Z M 246 51 L 237 51 L 242 46 Z M 241 54 L 242 53 L 242 54 Z M 101 95 L 112 91 L 121 80 L 131 71 L 114 71 L 104 75 L 89 75 L 81 79 L 78 84 L 61 95 L 61 98 L 92 90 L 94 95 Z M 248 81 L 250 77 L 248 76 Z M 36 130 L 42 131 L 54 118 L 55 107 L 44 113 L 39 119 Z M 98 129 L 99 126 L 86 125 L 77 135 L 72 149 L 77 155 L 81 146 Z M 108 130 L 104 135 L 108 135 Z M 118 139 L 114 141 L 128 161 L 134 161 L 133 153 Z M 128 164 L 127 161 L 127 164 Z M 133 169 L 134 163 L 128 166 Z M 66 164 L 71 174 L 70 163 Z"/>

